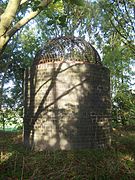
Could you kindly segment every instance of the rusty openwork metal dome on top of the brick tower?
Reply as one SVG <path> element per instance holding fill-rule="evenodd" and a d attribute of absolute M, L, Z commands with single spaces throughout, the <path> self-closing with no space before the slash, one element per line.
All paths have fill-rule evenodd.
<path fill-rule="evenodd" d="M 35 59 L 36 64 L 56 61 L 77 61 L 101 64 L 96 49 L 78 37 L 59 37 L 52 39 L 41 49 Z"/>

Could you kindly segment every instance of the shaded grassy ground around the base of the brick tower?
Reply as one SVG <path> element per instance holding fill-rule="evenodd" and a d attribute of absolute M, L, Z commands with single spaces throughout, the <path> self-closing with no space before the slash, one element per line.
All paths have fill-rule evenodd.
<path fill-rule="evenodd" d="M 0 180 L 135 180 L 135 128 L 114 129 L 106 150 L 23 148 L 19 133 L 0 132 Z"/>

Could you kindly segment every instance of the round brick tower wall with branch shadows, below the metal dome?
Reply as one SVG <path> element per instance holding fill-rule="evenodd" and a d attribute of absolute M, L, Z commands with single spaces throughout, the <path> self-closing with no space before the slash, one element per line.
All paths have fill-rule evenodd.
<path fill-rule="evenodd" d="M 34 64 L 25 77 L 25 144 L 36 150 L 110 145 L 110 75 L 101 64 Z"/>

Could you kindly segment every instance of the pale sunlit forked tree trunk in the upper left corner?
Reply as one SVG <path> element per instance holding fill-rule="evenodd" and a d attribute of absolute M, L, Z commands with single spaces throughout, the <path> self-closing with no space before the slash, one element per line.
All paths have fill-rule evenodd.
<path fill-rule="evenodd" d="M 26 17 L 23 17 L 12 26 L 19 7 L 25 2 L 27 2 L 27 0 L 9 0 L 5 11 L 2 11 L 2 14 L 0 14 L 0 57 L 11 37 L 30 20 L 35 18 L 52 0 L 41 0 L 41 3 L 35 11 L 31 11 Z"/>

